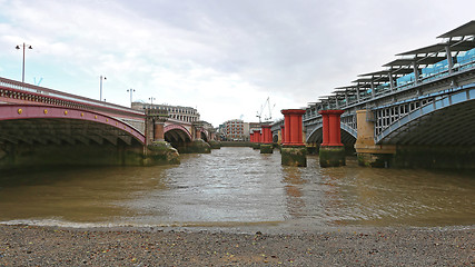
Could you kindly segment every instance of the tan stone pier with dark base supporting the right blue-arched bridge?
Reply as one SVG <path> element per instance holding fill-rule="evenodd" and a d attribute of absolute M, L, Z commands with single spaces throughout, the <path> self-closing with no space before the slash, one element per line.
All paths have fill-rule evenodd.
<path fill-rule="evenodd" d="M 396 154 L 396 146 L 375 144 L 375 122 L 368 118 L 368 112 L 370 111 L 366 109 L 356 111 L 358 137 L 355 149 L 358 164 L 367 167 L 389 167 Z"/>

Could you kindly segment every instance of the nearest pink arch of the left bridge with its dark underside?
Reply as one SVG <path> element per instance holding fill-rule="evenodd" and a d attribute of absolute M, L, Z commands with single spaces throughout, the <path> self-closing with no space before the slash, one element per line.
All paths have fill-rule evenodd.
<path fill-rule="evenodd" d="M 3 142 L 76 144 L 122 140 L 145 144 L 145 136 L 116 118 L 93 111 L 41 105 L 1 105 L 0 140 Z"/>

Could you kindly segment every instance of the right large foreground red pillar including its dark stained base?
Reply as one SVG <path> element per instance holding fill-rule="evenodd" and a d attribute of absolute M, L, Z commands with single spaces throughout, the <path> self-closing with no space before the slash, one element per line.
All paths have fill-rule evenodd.
<path fill-rule="evenodd" d="M 324 142 L 320 145 L 319 159 L 321 167 L 345 166 L 345 147 L 342 144 L 339 117 L 343 110 L 321 110 Z"/>

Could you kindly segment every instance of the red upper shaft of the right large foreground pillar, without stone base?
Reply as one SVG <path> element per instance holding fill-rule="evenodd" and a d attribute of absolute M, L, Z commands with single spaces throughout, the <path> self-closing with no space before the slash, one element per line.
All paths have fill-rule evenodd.
<path fill-rule="evenodd" d="M 343 112 L 343 110 L 321 110 L 318 112 L 321 115 L 324 120 L 324 142 L 321 142 L 321 146 L 343 147 L 339 121 L 339 116 Z"/>

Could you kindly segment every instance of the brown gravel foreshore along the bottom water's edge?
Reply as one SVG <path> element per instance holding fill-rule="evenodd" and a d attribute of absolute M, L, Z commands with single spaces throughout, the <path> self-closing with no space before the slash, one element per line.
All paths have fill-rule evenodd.
<path fill-rule="evenodd" d="M 0 266 L 475 266 L 475 226 L 287 234 L 24 225 L 0 229 Z"/>

